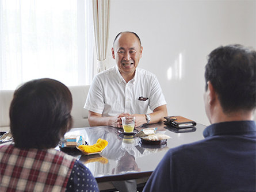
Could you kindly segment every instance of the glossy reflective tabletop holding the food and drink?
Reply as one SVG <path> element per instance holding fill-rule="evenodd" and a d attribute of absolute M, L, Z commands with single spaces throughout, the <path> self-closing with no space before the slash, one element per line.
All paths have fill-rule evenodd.
<path fill-rule="evenodd" d="M 138 131 L 143 128 L 157 128 L 157 133 L 171 137 L 161 145 L 145 145 L 139 137 L 121 135 L 119 128 L 112 126 L 74 128 L 65 136 L 82 135 L 89 145 L 95 144 L 99 138 L 108 141 L 108 146 L 101 155 L 86 156 L 79 152 L 71 153 L 90 169 L 99 182 L 110 181 L 114 176 L 119 179 L 133 179 L 139 178 L 140 175 L 150 175 L 168 149 L 204 139 L 202 132 L 205 127 L 197 124 L 195 128 L 181 130 L 167 127 L 163 122 L 159 122 L 136 128 Z"/>

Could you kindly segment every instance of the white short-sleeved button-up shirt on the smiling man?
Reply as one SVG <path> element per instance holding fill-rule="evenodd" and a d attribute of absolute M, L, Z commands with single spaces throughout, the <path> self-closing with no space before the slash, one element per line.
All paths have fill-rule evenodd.
<path fill-rule="evenodd" d="M 140 101 L 139 97 L 148 99 Z M 126 83 L 114 66 L 94 77 L 84 108 L 109 117 L 120 113 L 146 114 L 148 106 L 153 111 L 161 105 L 166 105 L 166 101 L 154 74 L 136 68 L 134 78 Z"/>

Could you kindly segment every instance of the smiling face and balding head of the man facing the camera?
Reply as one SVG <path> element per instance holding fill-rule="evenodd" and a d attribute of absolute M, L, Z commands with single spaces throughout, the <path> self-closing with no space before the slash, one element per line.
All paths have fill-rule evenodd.
<path fill-rule="evenodd" d="M 142 47 L 135 34 L 121 33 L 112 48 L 112 57 L 122 76 L 133 76 L 142 57 Z"/>

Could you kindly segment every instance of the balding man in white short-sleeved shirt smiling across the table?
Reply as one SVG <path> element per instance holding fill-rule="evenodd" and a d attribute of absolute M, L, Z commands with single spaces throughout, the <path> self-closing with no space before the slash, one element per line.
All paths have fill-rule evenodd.
<path fill-rule="evenodd" d="M 137 68 L 143 47 L 139 36 L 121 32 L 114 39 L 116 66 L 97 74 L 90 86 L 85 109 L 90 126 L 121 128 L 121 117 L 136 117 L 135 127 L 163 121 L 166 101 L 154 74 Z M 152 113 L 147 114 L 148 106 Z"/>

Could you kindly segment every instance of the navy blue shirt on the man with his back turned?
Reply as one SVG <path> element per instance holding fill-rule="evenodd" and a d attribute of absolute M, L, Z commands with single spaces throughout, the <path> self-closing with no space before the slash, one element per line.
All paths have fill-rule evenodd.
<path fill-rule="evenodd" d="M 220 122 L 203 134 L 169 149 L 143 191 L 256 191 L 255 122 Z"/>

